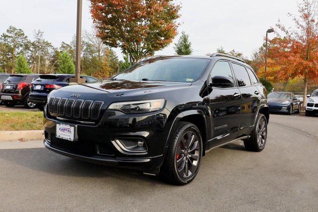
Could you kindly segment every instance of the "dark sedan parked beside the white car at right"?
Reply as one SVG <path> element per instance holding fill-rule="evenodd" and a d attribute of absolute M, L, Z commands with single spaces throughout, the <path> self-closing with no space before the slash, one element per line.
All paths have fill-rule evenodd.
<path fill-rule="evenodd" d="M 287 113 L 292 115 L 293 112 L 300 113 L 301 102 L 291 92 L 271 92 L 268 94 L 268 107 L 270 112 Z"/>

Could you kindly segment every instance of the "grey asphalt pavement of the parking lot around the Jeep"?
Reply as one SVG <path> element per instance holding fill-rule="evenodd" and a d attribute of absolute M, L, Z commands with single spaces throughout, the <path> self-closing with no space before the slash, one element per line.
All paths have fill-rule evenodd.
<path fill-rule="evenodd" d="M 186 186 L 3 145 L 1 211 L 318 211 L 318 117 L 271 115 L 262 152 L 216 148 Z"/>

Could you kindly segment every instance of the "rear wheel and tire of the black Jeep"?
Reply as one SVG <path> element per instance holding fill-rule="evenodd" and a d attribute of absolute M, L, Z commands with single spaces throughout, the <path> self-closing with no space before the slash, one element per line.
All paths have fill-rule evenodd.
<path fill-rule="evenodd" d="M 244 146 L 249 151 L 262 151 L 267 139 L 267 120 L 263 114 L 258 114 L 250 138 L 244 140 Z"/>

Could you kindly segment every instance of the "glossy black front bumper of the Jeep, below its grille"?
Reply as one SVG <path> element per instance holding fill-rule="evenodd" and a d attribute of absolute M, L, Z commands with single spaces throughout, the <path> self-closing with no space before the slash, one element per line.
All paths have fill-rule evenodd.
<path fill-rule="evenodd" d="M 149 114 L 106 111 L 98 123 L 89 125 L 48 117 L 45 108 L 44 144 L 52 151 L 87 162 L 157 174 L 167 148 L 168 113 L 166 109 Z M 56 123 L 76 125 L 78 140 L 71 142 L 56 138 Z M 114 144 L 116 138 L 143 139 L 147 151 L 125 152 Z"/>

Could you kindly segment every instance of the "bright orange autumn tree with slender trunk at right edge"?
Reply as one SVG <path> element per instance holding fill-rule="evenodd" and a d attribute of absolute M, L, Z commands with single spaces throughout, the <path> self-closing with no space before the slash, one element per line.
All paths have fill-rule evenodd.
<path fill-rule="evenodd" d="M 298 11 L 299 16 L 290 15 L 296 25 L 293 29 L 277 24 L 284 36 L 270 41 L 268 66 L 279 67 L 275 77 L 280 80 L 302 77 L 306 96 L 308 80 L 318 82 L 318 0 L 302 0 Z"/>

